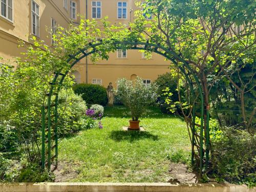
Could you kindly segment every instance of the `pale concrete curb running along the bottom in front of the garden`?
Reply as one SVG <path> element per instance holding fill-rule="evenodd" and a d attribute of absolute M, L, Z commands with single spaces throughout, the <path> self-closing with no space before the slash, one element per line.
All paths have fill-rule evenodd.
<path fill-rule="evenodd" d="M 252 192 L 256 188 L 234 184 L 171 183 L 0 183 L 1 192 Z"/>

